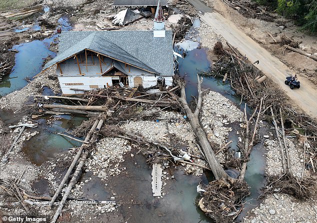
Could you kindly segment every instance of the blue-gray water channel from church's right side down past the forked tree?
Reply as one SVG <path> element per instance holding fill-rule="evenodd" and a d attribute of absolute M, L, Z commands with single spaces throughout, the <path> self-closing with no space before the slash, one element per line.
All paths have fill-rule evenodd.
<path fill-rule="evenodd" d="M 190 44 L 187 46 L 191 46 Z M 178 69 L 180 76 L 184 77 L 186 81 L 186 95 L 187 99 L 190 95 L 197 96 L 197 73 L 201 71 L 207 71 L 209 66 L 211 65 L 207 56 L 206 48 L 175 48 L 179 53 L 185 52 L 186 55 L 184 58 L 177 58 L 179 63 Z M 203 88 L 209 88 L 210 90 L 221 93 L 226 98 L 230 99 L 233 103 L 235 103 L 240 110 L 244 110 L 245 101 L 242 100 L 241 97 L 236 95 L 235 92 L 231 89 L 229 83 L 222 83 L 222 79 L 213 78 L 213 77 L 204 77 L 202 82 Z M 247 113 L 251 113 L 251 108 L 246 107 Z M 237 140 L 238 135 L 236 134 L 236 130 L 239 129 L 238 123 L 233 123 L 230 125 L 233 128 L 231 132 L 229 132 L 228 140 L 232 140 L 231 150 L 238 151 L 237 148 Z M 267 131 L 267 129 L 261 129 L 260 131 Z M 263 133 L 262 133 L 263 134 Z M 261 135 L 262 135 L 261 134 Z M 250 155 L 250 161 L 247 163 L 247 170 L 245 174 L 245 180 L 250 186 L 250 195 L 246 197 L 247 204 L 245 205 L 244 210 L 242 211 L 241 216 L 245 214 L 246 211 L 250 210 L 254 207 L 254 205 L 258 205 L 260 200 L 257 200 L 257 197 L 260 194 L 260 189 L 265 184 L 265 148 L 259 143 L 254 146 L 252 153 Z M 235 153 L 237 155 L 237 153 Z M 229 170 L 229 173 L 235 174 L 235 171 Z"/>

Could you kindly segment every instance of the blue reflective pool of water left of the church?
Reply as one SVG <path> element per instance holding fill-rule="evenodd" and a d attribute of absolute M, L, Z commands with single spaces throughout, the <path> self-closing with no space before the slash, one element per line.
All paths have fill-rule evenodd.
<path fill-rule="evenodd" d="M 49 44 L 55 36 L 43 40 L 33 40 L 30 42 L 14 45 L 12 48 L 18 52 L 15 54 L 15 65 L 12 72 L 4 76 L 0 83 L 0 96 L 20 89 L 27 84 L 25 77 L 33 77 L 40 72 L 44 59 L 55 52 L 48 49 Z"/>

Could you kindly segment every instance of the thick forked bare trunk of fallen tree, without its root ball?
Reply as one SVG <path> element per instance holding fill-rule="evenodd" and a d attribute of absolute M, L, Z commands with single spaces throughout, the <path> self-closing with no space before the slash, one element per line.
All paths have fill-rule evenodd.
<path fill-rule="evenodd" d="M 219 163 L 217 157 L 215 156 L 213 149 L 207 139 L 206 133 L 202 129 L 199 121 L 199 112 L 201 109 L 201 103 L 202 103 L 202 93 L 201 90 L 201 82 L 202 77 L 199 78 L 197 74 L 198 79 L 198 100 L 196 109 L 194 112 L 191 111 L 190 107 L 188 106 L 187 100 L 186 100 L 186 94 L 185 94 L 185 86 L 183 83 L 180 83 L 180 97 L 178 98 L 179 101 L 182 103 L 183 108 L 186 111 L 186 115 L 189 119 L 189 122 L 191 124 L 191 127 L 193 129 L 193 132 L 196 136 L 196 140 L 198 144 L 200 145 L 205 157 L 206 161 L 208 162 L 208 165 L 215 177 L 215 179 L 225 179 L 231 181 L 231 177 L 224 171 L 223 167 Z"/>

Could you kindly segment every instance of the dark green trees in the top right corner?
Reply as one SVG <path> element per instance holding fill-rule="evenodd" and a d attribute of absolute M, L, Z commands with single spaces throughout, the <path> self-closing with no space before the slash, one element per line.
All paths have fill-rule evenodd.
<path fill-rule="evenodd" d="M 317 33 L 317 0 L 254 0 L 277 13 L 293 18 L 302 30 Z"/>

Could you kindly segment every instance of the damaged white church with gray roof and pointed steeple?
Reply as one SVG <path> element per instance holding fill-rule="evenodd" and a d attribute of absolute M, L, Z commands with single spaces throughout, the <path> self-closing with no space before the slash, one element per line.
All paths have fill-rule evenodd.
<path fill-rule="evenodd" d="M 63 94 L 114 84 L 150 87 L 172 85 L 172 31 L 165 30 L 158 1 L 151 31 L 67 31 L 59 52 L 43 69 L 56 64 Z"/>

